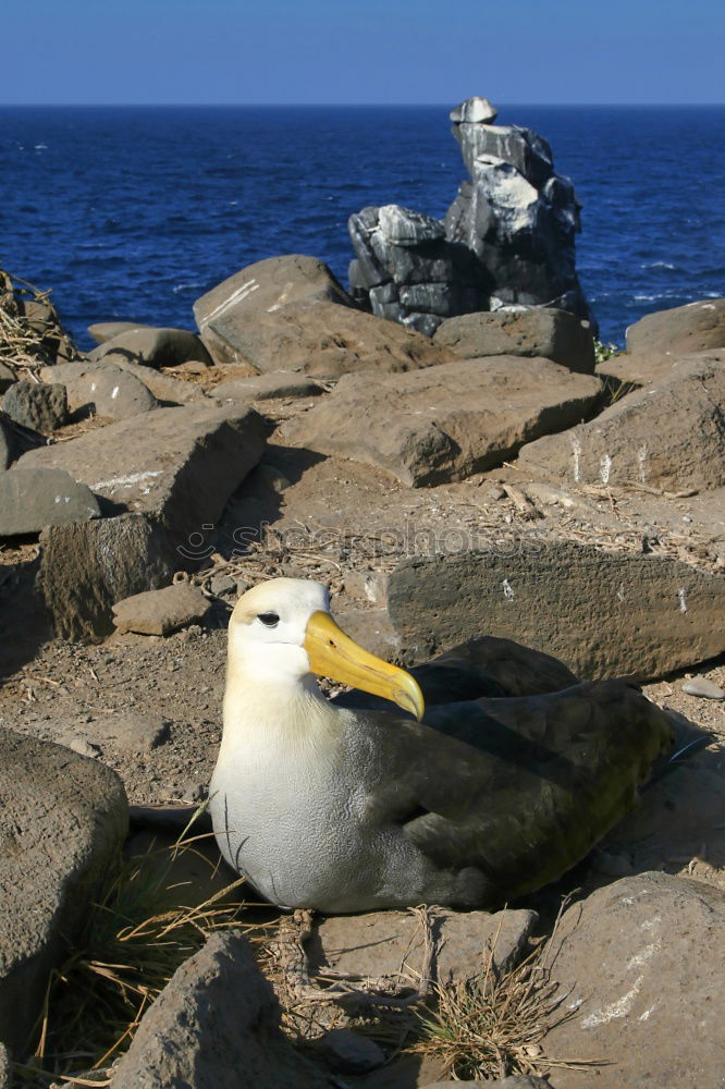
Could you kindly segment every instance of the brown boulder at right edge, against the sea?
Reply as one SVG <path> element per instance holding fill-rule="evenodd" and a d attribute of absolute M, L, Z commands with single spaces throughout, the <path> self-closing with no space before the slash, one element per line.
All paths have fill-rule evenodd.
<path fill-rule="evenodd" d="M 627 330 L 627 351 L 687 355 L 725 347 L 725 298 L 705 298 L 640 318 Z"/>

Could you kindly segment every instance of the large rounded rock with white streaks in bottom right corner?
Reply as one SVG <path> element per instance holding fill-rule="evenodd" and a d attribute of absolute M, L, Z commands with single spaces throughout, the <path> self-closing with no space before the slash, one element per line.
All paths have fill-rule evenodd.
<path fill-rule="evenodd" d="M 562 1019 L 544 1053 L 594 1060 L 557 1069 L 556 1089 L 703 1089 L 725 1070 L 725 894 L 666 873 L 641 873 L 575 904 L 552 954 Z"/>

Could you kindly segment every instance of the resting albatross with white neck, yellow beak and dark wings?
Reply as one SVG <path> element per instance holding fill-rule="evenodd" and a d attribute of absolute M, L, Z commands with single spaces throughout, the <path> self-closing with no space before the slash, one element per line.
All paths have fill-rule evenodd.
<path fill-rule="evenodd" d="M 345 635 L 320 583 L 271 578 L 230 617 L 209 811 L 282 908 L 495 909 L 586 857 L 672 744 L 628 681 L 492 636 L 404 670 Z"/>

